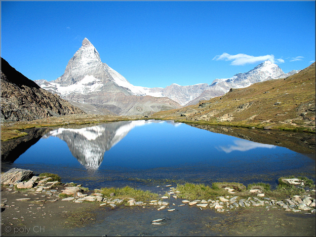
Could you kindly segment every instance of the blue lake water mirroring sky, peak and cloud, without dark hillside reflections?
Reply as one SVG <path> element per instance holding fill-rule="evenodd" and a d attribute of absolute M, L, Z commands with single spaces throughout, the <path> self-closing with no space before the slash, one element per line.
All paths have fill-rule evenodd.
<path fill-rule="evenodd" d="M 136 120 L 45 134 L 13 163 L 89 187 L 155 187 L 161 182 L 253 182 L 282 175 L 315 179 L 315 160 L 288 148 L 173 121 Z"/>

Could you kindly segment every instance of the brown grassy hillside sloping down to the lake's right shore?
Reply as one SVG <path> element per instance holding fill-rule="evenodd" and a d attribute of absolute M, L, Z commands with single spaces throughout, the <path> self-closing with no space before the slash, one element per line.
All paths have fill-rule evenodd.
<path fill-rule="evenodd" d="M 315 132 L 315 63 L 286 79 L 267 80 L 151 118 Z"/>

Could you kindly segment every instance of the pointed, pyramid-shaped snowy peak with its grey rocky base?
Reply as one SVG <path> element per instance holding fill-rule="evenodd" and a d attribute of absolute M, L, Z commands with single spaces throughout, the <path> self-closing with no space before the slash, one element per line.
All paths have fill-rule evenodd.
<path fill-rule="evenodd" d="M 36 81 L 42 88 L 59 94 L 87 113 L 88 107 L 96 107 L 92 113 L 117 115 L 150 115 L 161 110 L 179 108 L 167 98 L 157 98 L 144 93 L 143 87 L 130 84 L 118 72 L 102 63 L 100 55 L 86 38 L 82 46 L 69 60 L 65 73 L 56 80 Z M 80 105 L 78 105 L 80 103 Z"/>

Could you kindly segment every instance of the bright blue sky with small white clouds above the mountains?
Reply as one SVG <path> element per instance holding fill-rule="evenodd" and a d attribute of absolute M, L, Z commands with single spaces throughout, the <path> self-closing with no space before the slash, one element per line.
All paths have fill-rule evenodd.
<path fill-rule="evenodd" d="M 60 77 L 87 38 L 130 83 L 210 84 L 266 59 L 315 60 L 315 1 L 1 1 L 1 57 L 32 80 Z"/>

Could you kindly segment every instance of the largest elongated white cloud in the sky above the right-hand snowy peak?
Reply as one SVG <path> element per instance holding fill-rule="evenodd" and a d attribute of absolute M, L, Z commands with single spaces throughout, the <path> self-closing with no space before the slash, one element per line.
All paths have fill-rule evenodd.
<path fill-rule="evenodd" d="M 242 66 L 245 64 L 260 63 L 266 60 L 270 60 L 273 63 L 284 63 L 281 58 L 275 58 L 273 54 L 263 55 L 263 56 L 252 56 L 244 53 L 238 53 L 231 55 L 228 53 L 223 53 L 221 55 L 216 55 L 213 60 L 225 60 L 232 61 L 231 65 Z"/>

